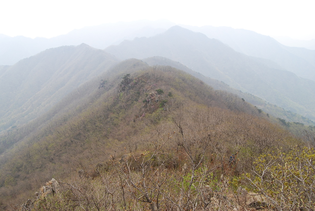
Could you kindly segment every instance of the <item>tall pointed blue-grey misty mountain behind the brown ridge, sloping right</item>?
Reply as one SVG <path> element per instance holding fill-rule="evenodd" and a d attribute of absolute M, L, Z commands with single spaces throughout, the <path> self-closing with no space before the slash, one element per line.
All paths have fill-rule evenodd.
<path fill-rule="evenodd" d="M 315 82 L 297 77 L 266 59 L 246 56 L 219 40 L 180 26 L 151 38 L 126 40 L 106 51 L 121 58 L 163 56 L 192 70 L 315 119 Z"/>

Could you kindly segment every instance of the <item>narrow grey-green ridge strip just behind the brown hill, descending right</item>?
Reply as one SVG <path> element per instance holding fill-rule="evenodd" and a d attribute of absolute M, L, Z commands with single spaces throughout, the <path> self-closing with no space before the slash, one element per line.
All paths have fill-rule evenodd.
<path fill-rule="evenodd" d="M 245 99 L 247 102 L 257 106 L 258 108 L 262 109 L 264 112 L 268 114 L 271 114 L 272 116 L 275 116 L 275 117 L 278 117 L 278 118 L 281 118 L 290 122 L 299 122 L 306 125 L 314 125 L 314 122 L 312 122 L 309 119 L 306 119 L 305 117 L 299 114 L 293 113 L 291 111 L 286 111 L 283 108 L 280 108 L 276 105 L 267 103 L 266 101 L 262 100 L 261 98 L 253 94 L 244 93 L 242 91 L 234 89 L 230 87 L 229 85 L 223 83 L 222 81 L 218 81 L 216 79 L 206 77 L 200 73 L 193 71 L 192 69 L 189 69 L 188 67 L 186 67 L 185 65 L 182 65 L 179 62 L 175 62 L 173 60 L 170 60 L 168 58 L 161 57 L 161 56 L 153 56 L 153 57 L 145 58 L 145 59 L 142 59 L 142 61 L 146 62 L 147 64 L 151 66 L 167 65 L 167 66 L 171 66 L 171 67 L 175 67 L 177 69 L 183 70 L 186 73 L 189 73 L 193 75 L 194 77 L 204 81 L 206 84 L 212 86 L 214 89 L 223 90 L 223 91 L 236 94 L 238 97 Z"/>

